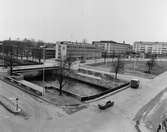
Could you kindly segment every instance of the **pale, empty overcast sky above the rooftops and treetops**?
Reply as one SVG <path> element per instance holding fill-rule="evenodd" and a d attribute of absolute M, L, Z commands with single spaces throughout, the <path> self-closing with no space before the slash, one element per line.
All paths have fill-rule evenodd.
<path fill-rule="evenodd" d="M 0 0 L 0 40 L 167 42 L 167 0 Z"/>

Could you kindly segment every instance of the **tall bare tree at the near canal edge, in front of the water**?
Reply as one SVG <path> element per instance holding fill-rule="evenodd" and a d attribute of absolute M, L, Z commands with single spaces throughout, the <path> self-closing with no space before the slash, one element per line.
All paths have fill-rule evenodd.
<path fill-rule="evenodd" d="M 67 84 L 67 77 L 71 72 L 72 59 L 61 59 L 56 70 L 56 80 L 59 83 L 59 95 L 62 95 L 62 89 Z"/>

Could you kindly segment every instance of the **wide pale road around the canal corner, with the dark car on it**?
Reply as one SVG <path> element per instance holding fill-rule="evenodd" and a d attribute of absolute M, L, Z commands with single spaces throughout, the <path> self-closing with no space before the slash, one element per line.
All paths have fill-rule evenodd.
<path fill-rule="evenodd" d="M 141 79 L 140 89 L 127 89 L 88 104 L 88 108 L 66 115 L 61 109 L 0 81 L 0 94 L 19 97 L 28 118 L 15 116 L 0 106 L 1 132 L 135 132 L 136 114 L 167 87 L 167 72 L 154 79 Z M 100 111 L 97 104 L 115 102 L 114 107 Z M 138 113 L 139 112 L 139 113 Z"/>

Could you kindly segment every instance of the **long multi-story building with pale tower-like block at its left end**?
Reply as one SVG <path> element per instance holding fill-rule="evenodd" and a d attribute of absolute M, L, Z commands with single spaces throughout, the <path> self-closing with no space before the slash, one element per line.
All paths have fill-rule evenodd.
<path fill-rule="evenodd" d="M 56 43 L 55 58 L 72 57 L 75 59 L 100 58 L 101 49 L 88 43 L 61 41 Z"/>

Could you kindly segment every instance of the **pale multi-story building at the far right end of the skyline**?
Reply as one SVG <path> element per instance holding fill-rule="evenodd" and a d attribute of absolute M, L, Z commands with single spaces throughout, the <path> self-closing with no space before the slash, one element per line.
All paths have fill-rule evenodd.
<path fill-rule="evenodd" d="M 137 41 L 133 44 L 133 50 L 137 53 L 167 54 L 167 42 Z"/>

